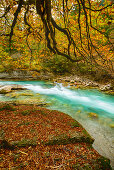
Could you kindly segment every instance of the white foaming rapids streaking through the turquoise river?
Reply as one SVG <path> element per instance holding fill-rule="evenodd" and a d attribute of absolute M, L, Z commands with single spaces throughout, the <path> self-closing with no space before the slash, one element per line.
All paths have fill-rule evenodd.
<path fill-rule="evenodd" d="M 110 114 L 114 114 L 114 103 L 103 100 L 103 97 L 98 95 L 87 95 L 81 91 L 72 91 L 66 87 L 63 87 L 61 84 L 57 84 L 52 88 L 43 88 L 40 85 L 26 85 L 28 89 L 44 94 L 44 95 L 54 95 L 59 96 L 62 99 L 69 100 L 72 103 L 86 105 L 91 108 L 101 109 Z"/>

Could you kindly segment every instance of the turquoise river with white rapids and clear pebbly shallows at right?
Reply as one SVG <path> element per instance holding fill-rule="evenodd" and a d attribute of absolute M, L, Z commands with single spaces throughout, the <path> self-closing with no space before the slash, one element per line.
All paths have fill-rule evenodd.
<path fill-rule="evenodd" d="M 49 103 L 49 109 L 69 114 L 78 120 L 95 139 L 94 148 L 111 160 L 114 166 L 114 96 L 103 94 L 97 90 L 72 90 L 62 84 L 43 81 L 0 81 L 0 85 L 20 84 L 34 93 L 40 93 L 42 99 Z M 0 101 L 13 100 L 0 95 Z M 95 113 L 91 117 L 90 113 Z"/>

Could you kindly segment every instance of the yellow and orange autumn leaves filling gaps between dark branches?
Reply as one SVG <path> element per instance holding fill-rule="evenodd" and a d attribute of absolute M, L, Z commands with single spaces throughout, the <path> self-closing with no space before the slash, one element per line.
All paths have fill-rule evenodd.
<path fill-rule="evenodd" d="M 7 5 L 11 5 L 10 12 L 6 15 L 6 18 L 2 18 L 2 22 L 0 25 L 0 32 L 4 30 L 4 33 L 10 33 L 10 26 L 13 20 L 13 14 L 17 9 L 17 2 L 8 0 Z M 63 11 L 63 1 L 57 0 L 52 1 L 52 15 L 55 19 L 56 23 L 65 29 L 69 29 L 71 32 L 71 37 L 74 39 L 74 43 L 76 44 L 76 48 L 74 49 L 73 44 L 70 45 L 69 53 L 71 55 L 74 54 L 77 58 L 83 59 L 83 62 L 90 62 L 92 60 L 91 56 L 93 55 L 94 60 L 100 64 L 101 66 L 103 63 L 106 65 L 104 60 L 111 60 L 112 61 L 112 46 L 109 43 L 112 42 L 112 13 L 113 8 L 110 6 L 108 8 L 103 9 L 102 11 L 95 11 L 99 10 L 111 2 L 109 0 L 103 1 L 90 1 L 85 0 L 86 9 L 85 12 L 87 13 L 87 20 L 88 20 L 88 27 L 89 32 L 87 33 L 87 22 L 85 12 L 82 6 L 82 3 L 77 0 L 67 1 L 64 4 L 64 11 Z M 80 4 L 80 8 L 79 8 Z M 5 4 L 4 4 L 5 5 Z M 39 15 L 36 14 L 36 10 L 34 5 L 29 7 L 29 11 L 26 15 L 26 19 L 28 25 L 24 23 L 24 12 L 26 8 L 23 6 L 21 12 L 18 15 L 16 26 L 14 27 L 14 35 L 12 37 L 11 47 L 9 48 L 8 38 L 1 37 L 1 45 L 6 52 L 11 52 L 8 55 L 12 56 L 14 53 L 20 53 L 19 58 L 17 61 L 12 62 L 14 68 L 22 68 L 22 69 L 42 69 L 42 62 L 45 59 L 50 59 L 53 57 L 53 54 L 47 50 L 47 42 L 45 38 L 45 27 L 41 21 Z M 80 14 L 80 15 L 79 15 Z M 6 23 L 5 23 L 6 22 Z M 4 25 L 5 23 L 5 25 Z M 80 23 L 80 25 L 79 25 Z M 67 36 L 52 27 L 53 31 L 55 31 L 55 39 L 57 42 L 57 48 L 68 54 L 68 39 Z M 107 39 L 108 37 L 108 39 Z M 53 47 L 53 40 L 51 39 L 51 34 L 49 33 L 50 43 Z M 90 48 L 88 48 L 88 44 L 91 45 L 91 55 L 90 55 Z M 94 49 L 99 51 L 98 53 Z M 111 49 L 111 50 L 110 50 Z M 81 54 L 83 53 L 83 57 Z M 108 57 L 107 57 L 108 56 Z M 103 60 L 102 60 L 103 59 Z M 30 67 L 29 67 L 30 64 Z"/>

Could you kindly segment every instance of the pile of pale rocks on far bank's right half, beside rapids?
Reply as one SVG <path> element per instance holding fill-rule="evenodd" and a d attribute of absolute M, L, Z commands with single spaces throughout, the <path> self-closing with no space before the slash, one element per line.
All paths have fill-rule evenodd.
<path fill-rule="evenodd" d="M 114 83 L 113 80 L 109 82 L 105 81 L 94 81 L 89 79 L 87 76 L 58 76 L 53 79 L 54 82 L 62 83 L 63 86 L 71 86 L 73 89 L 97 89 L 106 94 L 114 95 Z"/>

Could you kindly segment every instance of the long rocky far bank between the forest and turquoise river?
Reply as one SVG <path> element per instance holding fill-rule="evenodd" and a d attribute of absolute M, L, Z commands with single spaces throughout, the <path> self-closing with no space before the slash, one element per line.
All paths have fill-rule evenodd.
<path fill-rule="evenodd" d="M 101 78 L 95 80 L 90 75 L 54 75 L 52 73 L 38 73 L 35 75 L 33 71 L 13 71 L 11 73 L 0 73 L 0 80 L 14 80 L 14 81 L 26 81 L 26 80 L 43 80 L 62 83 L 63 86 L 71 86 L 71 88 L 77 89 L 97 89 L 106 94 L 114 95 L 114 77 Z"/>

